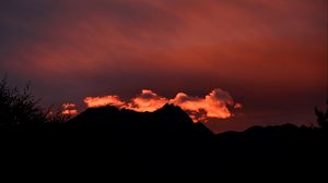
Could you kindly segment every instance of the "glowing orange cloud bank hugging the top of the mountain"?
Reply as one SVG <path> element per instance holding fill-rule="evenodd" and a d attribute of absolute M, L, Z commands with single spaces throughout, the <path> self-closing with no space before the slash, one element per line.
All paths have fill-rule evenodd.
<path fill-rule="evenodd" d="M 140 95 L 131 98 L 126 102 L 120 100 L 116 95 L 105 97 L 86 97 L 84 102 L 87 107 L 115 106 L 118 108 L 131 109 L 134 111 L 155 111 L 162 108 L 165 103 L 179 106 L 190 118 L 197 121 L 208 121 L 208 119 L 227 119 L 233 117 L 229 107 L 241 109 L 241 103 L 234 103 L 232 96 L 220 88 L 213 89 L 204 97 L 192 97 L 185 93 L 178 93 L 175 98 L 168 99 L 159 96 L 150 89 L 142 89 Z"/>

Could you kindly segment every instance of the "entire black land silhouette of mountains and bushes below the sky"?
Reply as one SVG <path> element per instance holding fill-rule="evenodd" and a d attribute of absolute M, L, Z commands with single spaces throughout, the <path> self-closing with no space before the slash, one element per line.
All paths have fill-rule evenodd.
<path fill-rule="evenodd" d="M 2 80 L 1 163 L 109 174 L 317 174 L 327 166 L 328 111 L 315 112 L 320 127 L 285 124 L 213 134 L 173 105 L 154 112 L 90 108 L 69 119 L 38 107 L 28 87 L 20 91 Z"/>

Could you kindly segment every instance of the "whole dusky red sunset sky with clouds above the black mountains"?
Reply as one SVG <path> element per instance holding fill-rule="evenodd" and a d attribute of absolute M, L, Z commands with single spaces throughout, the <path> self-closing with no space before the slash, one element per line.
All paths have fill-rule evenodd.
<path fill-rule="evenodd" d="M 0 75 L 67 113 L 171 102 L 215 133 L 312 125 L 328 95 L 327 3 L 1 0 Z"/>

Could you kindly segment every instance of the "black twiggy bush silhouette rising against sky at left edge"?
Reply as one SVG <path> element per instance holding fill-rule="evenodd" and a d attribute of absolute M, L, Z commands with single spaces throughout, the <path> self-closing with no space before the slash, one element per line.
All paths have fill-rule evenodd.
<path fill-rule="evenodd" d="M 7 78 L 0 81 L 0 127 L 2 130 L 24 130 L 44 127 L 45 123 L 61 123 L 69 118 L 61 111 L 50 112 L 38 105 L 30 90 L 30 85 L 20 90 L 10 87 Z"/>

